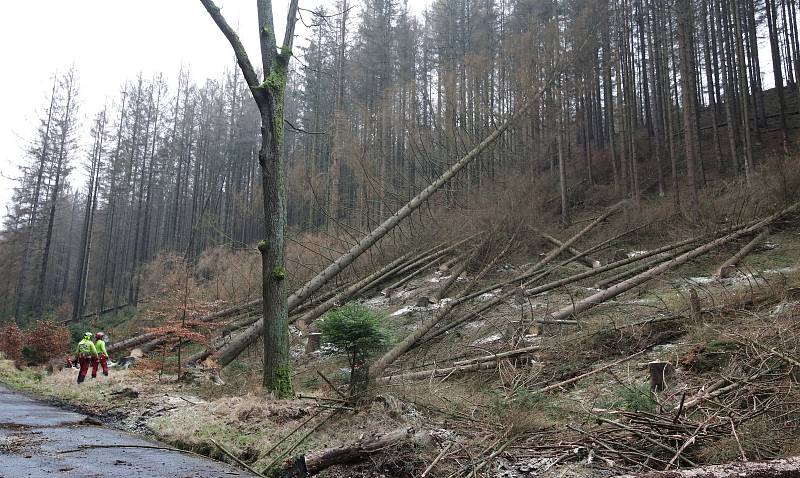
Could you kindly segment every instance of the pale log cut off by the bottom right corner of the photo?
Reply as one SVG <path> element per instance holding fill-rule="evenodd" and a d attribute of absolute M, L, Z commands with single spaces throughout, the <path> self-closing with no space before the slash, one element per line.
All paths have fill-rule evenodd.
<path fill-rule="evenodd" d="M 798 476 L 800 476 L 800 457 L 763 462 L 732 462 L 684 470 L 647 471 L 637 475 L 617 475 L 614 478 L 797 478 Z"/>

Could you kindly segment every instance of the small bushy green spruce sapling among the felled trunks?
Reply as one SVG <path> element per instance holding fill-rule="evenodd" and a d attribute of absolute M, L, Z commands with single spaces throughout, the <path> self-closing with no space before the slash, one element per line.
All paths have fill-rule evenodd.
<path fill-rule="evenodd" d="M 355 396 L 369 379 L 367 360 L 388 342 L 379 317 L 363 305 L 351 302 L 328 312 L 319 327 L 322 342 L 332 346 L 336 353 L 347 356 L 350 396 Z"/>

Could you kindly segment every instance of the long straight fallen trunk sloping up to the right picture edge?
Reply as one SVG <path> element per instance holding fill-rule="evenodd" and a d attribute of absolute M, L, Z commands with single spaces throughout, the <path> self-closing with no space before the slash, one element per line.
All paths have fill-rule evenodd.
<path fill-rule="evenodd" d="M 546 317 L 545 320 L 563 320 L 575 316 L 586 310 L 589 310 L 613 297 L 618 296 L 619 294 L 622 294 L 623 292 L 633 289 L 634 287 L 639 286 L 641 284 L 644 284 L 645 282 L 655 277 L 658 277 L 661 274 L 664 274 L 665 272 L 674 269 L 675 267 L 684 264 L 690 261 L 691 259 L 694 259 L 697 256 L 705 254 L 706 252 L 714 248 L 717 248 L 722 244 L 726 244 L 742 236 L 752 234 L 753 232 L 758 231 L 759 229 L 763 229 L 765 226 L 768 226 L 769 224 L 771 224 L 772 222 L 774 222 L 775 220 L 779 219 L 780 217 L 786 214 L 794 212 L 798 208 L 800 208 L 800 202 L 797 202 L 787 207 L 786 209 L 783 209 L 782 211 L 779 211 L 765 219 L 762 219 L 755 225 L 745 227 L 732 234 L 728 234 L 719 239 L 711 241 L 708 244 L 704 244 L 700 247 L 692 249 L 691 251 L 681 254 L 680 256 L 670 261 L 667 261 L 657 267 L 654 267 L 648 271 L 642 272 L 641 274 L 635 275 L 630 279 L 622 281 L 613 287 L 609 287 L 606 290 L 597 292 L 596 294 L 592 294 L 585 299 L 581 299 L 575 302 L 574 304 L 564 307 L 561 310 L 555 312 L 554 314 L 549 315 L 548 317 Z"/>

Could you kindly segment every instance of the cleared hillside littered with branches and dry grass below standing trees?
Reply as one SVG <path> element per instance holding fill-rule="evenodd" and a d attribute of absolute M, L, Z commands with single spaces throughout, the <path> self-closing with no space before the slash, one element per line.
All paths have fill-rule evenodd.
<path fill-rule="evenodd" d="M 774 179 L 760 177 L 764 191 Z M 405 264 L 415 265 L 351 300 L 381 317 L 391 337 L 387 348 L 432 318 L 441 320 L 391 363 L 384 378 L 346 402 L 347 361 L 331 355 L 329 347 L 323 347 L 328 352 L 307 349 L 315 326 L 298 321 L 291 338 L 296 393 L 291 400 L 270 398 L 256 385 L 258 346 L 224 371 L 206 363 L 180 379 L 173 341 L 135 368 L 112 369 L 110 378 L 88 386 L 75 385 L 71 370 L 47 375 L 8 365 L 2 380 L 67 400 L 114 426 L 229 460 L 213 438 L 258 471 L 288 457 L 313 457 L 321 449 L 410 428 L 414 432 L 401 434 L 401 441 L 365 452 L 367 464 L 334 467 L 320 476 L 420 476 L 434 462 L 428 476 L 466 476 L 473 468 L 478 476 L 606 476 L 795 456 L 800 452 L 800 412 L 794 405 L 800 352 L 796 213 L 770 223 L 768 233 L 759 234 L 758 225 L 629 292 L 553 320 L 559 311 L 610 290 L 598 288 L 603 279 L 618 284 L 789 204 L 777 195 L 753 202 L 733 192 L 736 188 L 729 191 L 705 202 L 707 217 L 720 222 L 702 227 L 672 214 L 666 200 L 624 208 L 600 222 L 596 219 L 611 208 L 596 205 L 566 229 L 556 226 L 555 218 L 545 229 L 542 216 L 528 209 L 433 218 L 429 224 L 449 219 L 470 227 L 429 232 L 436 238 L 431 243 L 440 244 L 432 249 L 398 241 L 361 274 L 406 251 L 416 250 L 413 259 L 424 260 L 406 256 Z M 570 252 L 548 254 L 559 248 L 542 233 L 566 241 L 594 223 Z M 716 278 L 720 264 L 756 236 L 752 252 L 728 277 Z M 697 241 L 687 245 L 687 238 Z M 677 249 L 648 257 L 675 244 Z M 570 260 L 575 251 L 590 260 Z M 550 256 L 548 266 L 524 286 L 513 280 Z M 601 266 L 592 269 L 595 261 Z M 226 280 L 228 263 L 217 257 L 206 262 L 214 266 L 195 270 L 195 313 L 207 313 L 201 297 Z M 630 265 L 614 267 L 618 263 Z M 628 272 L 620 276 L 620 271 Z M 479 293 L 451 310 L 468 292 Z M 246 314 L 209 328 L 224 329 Z M 147 316 L 132 318 L 119 331 L 142 327 Z M 162 352 L 169 353 L 166 362 Z M 657 367 L 668 373 L 664 388 L 652 392 Z"/>

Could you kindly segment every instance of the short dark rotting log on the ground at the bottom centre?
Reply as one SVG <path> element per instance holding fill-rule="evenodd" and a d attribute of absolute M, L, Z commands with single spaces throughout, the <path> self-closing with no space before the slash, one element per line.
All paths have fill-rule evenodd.
<path fill-rule="evenodd" d="M 385 452 L 389 447 L 407 444 L 425 446 L 430 440 L 428 432 L 417 431 L 414 428 L 399 428 L 383 435 L 364 438 L 350 445 L 327 448 L 296 457 L 289 462 L 284 476 L 287 478 L 312 476 L 334 465 L 364 461 L 371 455 Z"/>

